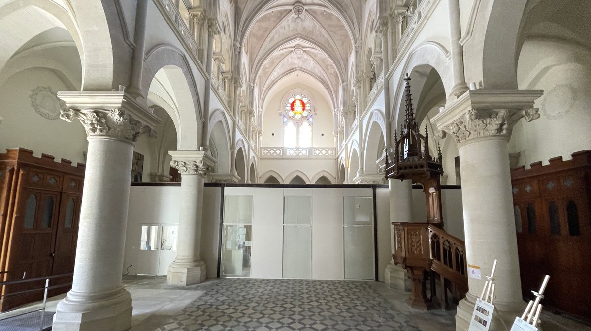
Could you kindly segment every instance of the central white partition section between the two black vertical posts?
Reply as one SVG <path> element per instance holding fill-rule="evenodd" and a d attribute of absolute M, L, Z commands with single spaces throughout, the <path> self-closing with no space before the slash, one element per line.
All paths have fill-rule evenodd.
<path fill-rule="evenodd" d="M 374 279 L 372 189 L 226 188 L 224 194 L 226 202 L 252 196 L 250 277 Z M 225 207 L 225 217 L 236 208 Z M 345 214 L 352 216 L 348 224 Z"/>

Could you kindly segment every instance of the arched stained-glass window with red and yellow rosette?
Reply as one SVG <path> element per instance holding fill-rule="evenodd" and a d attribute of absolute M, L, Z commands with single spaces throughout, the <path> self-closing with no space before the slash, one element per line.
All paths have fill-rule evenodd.
<path fill-rule="evenodd" d="M 294 94 L 287 99 L 283 114 L 283 146 L 312 146 L 313 117 L 311 101 L 306 96 Z"/>

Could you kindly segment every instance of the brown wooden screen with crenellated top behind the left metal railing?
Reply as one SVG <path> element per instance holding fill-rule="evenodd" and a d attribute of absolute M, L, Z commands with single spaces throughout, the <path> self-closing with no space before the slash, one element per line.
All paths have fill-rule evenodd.
<path fill-rule="evenodd" d="M 0 271 L 2 281 L 69 274 L 74 270 L 85 165 L 53 156 L 33 156 L 28 149 L 0 154 Z M 50 285 L 71 283 L 59 278 Z M 9 294 L 43 287 L 44 281 L 3 286 L 0 311 L 40 300 L 43 291 Z M 51 291 L 64 293 L 69 287 Z"/>

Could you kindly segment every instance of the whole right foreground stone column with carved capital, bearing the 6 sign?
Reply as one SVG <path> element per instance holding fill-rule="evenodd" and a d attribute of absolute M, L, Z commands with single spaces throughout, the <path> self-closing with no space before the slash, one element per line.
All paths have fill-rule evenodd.
<path fill-rule="evenodd" d="M 460 301 L 456 330 L 467 330 L 493 260 L 496 320 L 492 331 L 506 331 L 525 303 L 521 297 L 517 236 L 511 194 L 508 142 L 514 124 L 540 117 L 534 100 L 541 90 L 470 90 L 433 118 L 441 136 L 458 143 L 466 232 L 466 260 L 481 267 L 482 279 L 468 278 Z M 501 320 L 502 319 L 502 320 Z"/>

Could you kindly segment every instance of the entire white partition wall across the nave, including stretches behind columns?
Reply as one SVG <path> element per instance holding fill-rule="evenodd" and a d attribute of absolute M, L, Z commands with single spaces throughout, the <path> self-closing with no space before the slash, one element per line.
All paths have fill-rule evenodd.
<path fill-rule="evenodd" d="M 311 278 L 323 280 L 343 279 L 374 279 L 375 268 L 378 267 L 378 277 L 383 274 L 385 266 L 391 259 L 391 244 L 389 229 L 389 198 L 388 189 L 376 189 L 376 213 L 378 237 L 374 244 L 373 214 L 369 211 L 359 214 L 359 210 L 367 209 L 367 204 L 362 207 L 361 203 L 355 202 L 359 197 L 373 199 L 371 188 L 254 188 L 254 187 L 205 187 L 203 197 L 203 225 L 201 251 L 203 261 L 207 264 L 207 278 L 217 277 L 217 263 L 219 259 L 219 247 L 225 245 L 220 239 L 220 215 L 222 199 L 230 196 L 248 196 L 252 202 L 241 204 L 230 202 L 227 207 L 235 215 L 251 214 L 251 230 L 246 240 L 246 230 L 236 230 L 236 240 L 244 237 L 242 242 L 230 244 L 233 247 L 232 254 L 236 260 L 242 260 L 242 271 L 249 267 L 251 278 Z M 167 262 L 163 261 L 167 253 L 174 253 L 173 227 L 178 222 L 178 198 L 180 186 L 132 186 L 129 195 L 129 214 L 126 232 L 126 245 L 124 266 L 122 272 L 126 273 L 129 267 L 129 274 L 165 274 L 160 267 L 165 267 Z M 424 194 L 420 189 L 414 189 L 413 195 L 417 199 L 414 205 L 415 214 L 424 213 Z M 290 205 L 284 208 L 286 197 L 296 197 L 291 210 Z M 356 198 L 357 197 L 357 198 Z M 301 201 L 297 199 L 301 198 Z M 235 198 L 230 198 L 235 199 Z M 290 198 L 288 198 L 289 200 Z M 444 204 L 444 221 L 446 230 L 463 237 L 462 220 L 462 196 L 460 190 L 443 190 L 442 199 Z M 346 201 L 352 202 L 346 202 Z M 310 202 L 308 202 L 310 201 Z M 369 199 L 367 200 L 369 201 Z M 308 212 L 307 208 L 297 208 L 298 204 L 309 204 L 311 217 L 307 224 L 305 247 L 309 251 L 302 251 L 292 248 L 285 252 L 284 247 L 298 247 L 301 245 L 302 235 L 288 235 L 291 242 L 285 242 L 284 218 L 285 212 L 288 215 L 300 217 L 299 212 Z M 373 201 L 371 202 L 373 208 Z M 359 205 L 359 207 L 357 207 Z M 373 210 L 371 208 L 371 210 Z M 369 225 L 368 216 L 372 220 Z M 352 218 L 351 218 L 352 216 Z M 421 217 L 421 216 L 419 216 Z M 361 218 L 361 219 L 358 219 Z M 345 224 L 350 219 L 353 224 Z M 422 217 L 420 219 L 423 219 Z M 232 221 L 232 220 L 230 220 Z M 232 222 L 243 222 L 244 220 L 234 219 Z M 288 221 L 299 223 L 297 221 Z M 297 224 L 303 225 L 303 224 Z M 145 242 L 150 237 L 151 250 L 142 251 L 142 227 L 150 228 L 150 235 L 145 233 Z M 239 226 L 245 228 L 244 226 Z M 158 228 L 158 230 L 154 230 Z M 356 232 L 355 230 L 358 229 Z M 301 230 L 301 229 L 300 229 Z M 154 232 L 155 231 L 155 232 Z M 158 234 L 158 231 L 161 233 Z M 241 233 L 242 231 L 243 233 Z M 453 231 L 453 232 L 452 232 Z M 164 232 L 167 232 L 166 234 Z M 154 234 L 155 233 L 155 234 Z M 170 237 L 170 238 L 169 238 Z M 345 240 L 345 238 L 349 238 Z M 163 239 L 166 241 L 163 243 Z M 173 245 L 169 242 L 173 242 Z M 251 241 L 251 242 L 246 242 Z M 360 246 L 361 244 L 361 246 Z M 250 246 L 248 246 L 250 245 Z M 168 251 L 168 246 L 172 246 Z M 374 247 L 377 246 L 377 258 Z M 154 251 L 153 248 L 158 250 Z M 247 248 L 250 247 L 250 248 Z M 349 250 L 350 248 L 350 250 Z M 250 260 L 245 260 L 245 252 L 250 250 Z M 349 250 L 349 251 L 348 251 Z M 348 252 L 348 253 L 346 253 Z M 142 257 L 142 253 L 152 254 L 150 258 Z M 155 254 L 154 254 L 155 253 Z M 287 253 L 287 254 L 286 254 Z M 293 254 L 299 255 L 293 255 Z M 302 254 L 305 253 L 305 254 Z M 292 255 L 290 255 L 292 254 Z M 355 255 L 359 254 L 359 255 Z M 156 256 L 158 255 L 158 256 Z M 173 254 L 174 255 L 174 254 Z M 298 260 L 298 258 L 305 259 Z M 346 258 L 347 256 L 347 258 Z M 233 258 L 231 259 L 233 260 Z M 355 260 L 357 262 L 355 262 Z M 378 260 L 378 266 L 374 266 Z M 346 263 L 349 262 L 352 273 L 345 273 Z M 239 264 L 235 265 L 238 270 Z M 284 267 L 287 267 L 284 268 Z M 285 274 L 285 271 L 288 271 Z M 306 272 L 306 274 L 294 274 L 293 272 Z M 378 278 L 379 279 L 379 278 Z"/>

